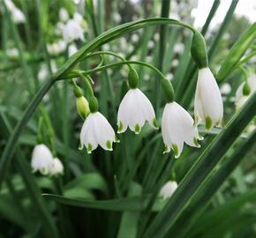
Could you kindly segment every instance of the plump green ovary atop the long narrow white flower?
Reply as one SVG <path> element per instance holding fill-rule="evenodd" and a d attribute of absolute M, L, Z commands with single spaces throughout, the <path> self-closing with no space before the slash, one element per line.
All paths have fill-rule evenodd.
<path fill-rule="evenodd" d="M 196 32 L 192 37 L 191 54 L 200 69 L 208 66 L 207 45 L 204 37 Z"/>

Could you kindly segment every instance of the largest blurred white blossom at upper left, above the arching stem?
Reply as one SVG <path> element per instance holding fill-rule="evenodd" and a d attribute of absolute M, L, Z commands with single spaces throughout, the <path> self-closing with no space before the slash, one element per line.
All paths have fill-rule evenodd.
<path fill-rule="evenodd" d="M 75 40 L 84 41 L 84 29 L 79 25 L 78 21 L 75 19 L 70 19 L 64 25 L 63 28 L 64 41 L 72 42 Z"/>

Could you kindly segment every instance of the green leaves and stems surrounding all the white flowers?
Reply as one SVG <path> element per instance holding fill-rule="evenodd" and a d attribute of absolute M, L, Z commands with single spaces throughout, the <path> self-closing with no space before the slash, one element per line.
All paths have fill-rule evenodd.
<path fill-rule="evenodd" d="M 201 31 L 184 16 L 192 11 L 190 1 L 12 2 L 26 22 L 16 23 L 5 1 L 0 3 L 0 237 L 256 235 L 252 87 L 243 88 L 248 99 L 242 108 L 234 103 L 246 79 L 237 68 L 244 76 L 255 73 L 256 31 L 255 23 L 234 15 L 238 1 L 220 26 L 209 29 L 220 5 L 214 1 Z M 58 24 L 62 8 L 69 19 L 81 13 L 84 40 L 55 51 L 50 45 L 64 39 L 58 33 L 65 24 Z M 169 13 L 182 21 L 169 19 Z M 72 46 L 79 50 L 70 56 Z M 199 127 L 201 148 L 184 145 L 176 160 L 177 144 L 171 154 L 162 153 L 162 110 L 175 100 L 193 114 L 198 66 L 208 60 L 213 72 L 221 65 L 219 86 L 231 87 L 222 93 L 226 125 L 206 131 L 212 123 L 207 121 Z M 117 135 L 120 143 L 112 152 L 100 145 L 91 154 L 79 151 L 88 107 L 99 110 L 115 131 L 124 129 L 125 122 L 117 126 L 117 109 L 127 82 L 152 102 L 156 118 L 150 123 L 160 130 L 136 123 L 139 134 Z M 88 103 L 80 101 L 78 110 L 76 97 L 82 95 Z M 62 161 L 63 176 L 32 173 L 37 138 Z M 104 143 L 110 149 L 111 141 Z M 177 190 L 162 198 L 170 180 Z"/>

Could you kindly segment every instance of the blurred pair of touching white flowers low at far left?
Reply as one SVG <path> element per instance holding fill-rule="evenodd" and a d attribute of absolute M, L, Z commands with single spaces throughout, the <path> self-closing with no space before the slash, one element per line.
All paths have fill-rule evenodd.
<path fill-rule="evenodd" d="M 64 166 L 58 158 L 54 158 L 46 145 L 35 145 L 32 152 L 31 167 L 33 172 L 41 175 L 63 175 Z"/>

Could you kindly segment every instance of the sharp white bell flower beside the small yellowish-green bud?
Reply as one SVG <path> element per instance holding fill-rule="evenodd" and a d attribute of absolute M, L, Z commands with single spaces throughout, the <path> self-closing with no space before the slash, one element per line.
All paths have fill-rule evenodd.
<path fill-rule="evenodd" d="M 87 147 L 87 152 L 91 153 L 98 145 L 104 150 L 112 151 L 112 143 L 118 142 L 115 131 L 108 120 L 100 112 L 90 113 L 87 116 L 80 132 L 80 145 Z"/>

